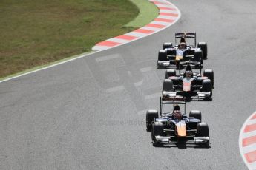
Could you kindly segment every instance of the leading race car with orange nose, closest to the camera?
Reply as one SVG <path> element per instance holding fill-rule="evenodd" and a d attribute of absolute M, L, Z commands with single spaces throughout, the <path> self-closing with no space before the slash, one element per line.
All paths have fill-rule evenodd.
<path fill-rule="evenodd" d="M 185 107 L 183 113 L 179 105 Z M 164 107 L 167 112 L 163 111 Z M 202 115 L 198 110 L 191 110 L 189 115 L 186 115 L 184 98 L 172 98 L 169 101 L 162 101 L 160 98 L 160 116 L 157 110 L 146 112 L 146 127 L 148 132 L 151 132 L 153 146 L 179 143 L 209 146 L 209 127 L 201 120 Z"/>

